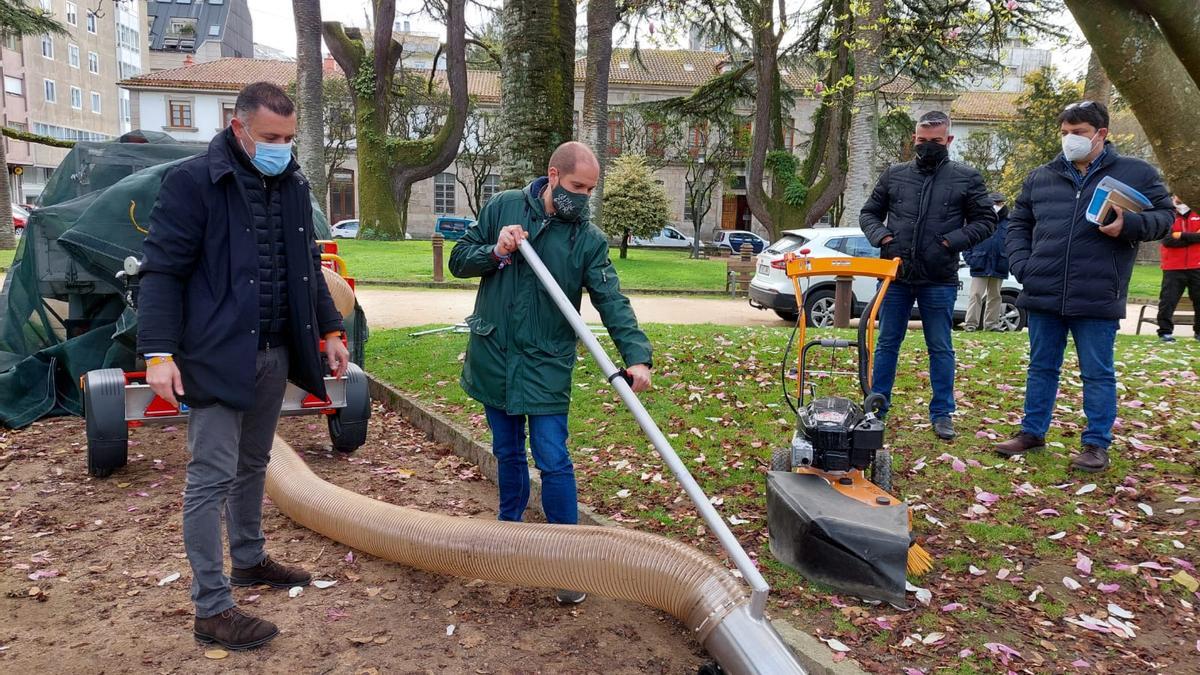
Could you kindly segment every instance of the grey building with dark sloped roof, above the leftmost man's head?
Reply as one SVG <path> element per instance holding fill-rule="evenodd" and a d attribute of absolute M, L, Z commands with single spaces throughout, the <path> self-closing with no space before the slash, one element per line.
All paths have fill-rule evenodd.
<path fill-rule="evenodd" d="M 290 11 L 292 5 L 286 5 Z M 254 56 L 254 22 L 247 0 L 148 0 L 145 11 L 151 71 Z"/>

